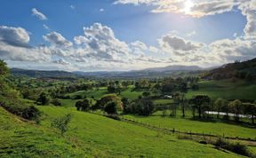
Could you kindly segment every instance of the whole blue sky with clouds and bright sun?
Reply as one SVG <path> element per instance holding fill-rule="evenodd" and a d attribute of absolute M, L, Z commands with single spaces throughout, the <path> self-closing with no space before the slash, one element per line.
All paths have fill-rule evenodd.
<path fill-rule="evenodd" d="M 9 67 L 123 71 L 256 57 L 256 0 L 1 0 Z"/>

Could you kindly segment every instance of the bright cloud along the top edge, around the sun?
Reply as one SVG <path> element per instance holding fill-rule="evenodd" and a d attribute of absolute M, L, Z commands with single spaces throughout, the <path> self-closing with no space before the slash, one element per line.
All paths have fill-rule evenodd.
<path fill-rule="evenodd" d="M 207 15 L 214 15 L 222 12 L 230 12 L 234 8 L 234 6 L 240 3 L 236 2 L 236 0 L 192 0 L 191 3 L 189 4 L 188 0 L 117 0 L 114 2 L 114 4 L 147 4 L 155 7 L 155 9 L 151 11 L 154 13 L 183 13 L 195 18 L 200 18 Z"/>

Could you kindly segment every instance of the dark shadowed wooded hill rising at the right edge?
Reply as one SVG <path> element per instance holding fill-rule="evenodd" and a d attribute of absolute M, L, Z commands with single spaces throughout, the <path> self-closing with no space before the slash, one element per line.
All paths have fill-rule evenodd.
<path fill-rule="evenodd" d="M 222 67 L 212 69 L 204 74 L 205 79 L 246 79 L 252 80 L 256 78 L 256 58 L 247 61 L 229 63 Z"/>

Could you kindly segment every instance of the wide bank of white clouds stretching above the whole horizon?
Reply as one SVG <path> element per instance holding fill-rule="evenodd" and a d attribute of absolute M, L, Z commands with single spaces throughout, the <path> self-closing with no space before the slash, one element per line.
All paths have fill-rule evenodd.
<path fill-rule="evenodd" d="M 0 57 L 12 67 L 20 63 L 23 68 L 128 70 L 175 64 L 212 66 L 256 56 L 256 40 L 243 36 L 204 44 L 169 33 L 158 39 L 158 45 L 152 46 L 141 41 L 125 43 L 116 38 L 112 28 L 94 23 L 83 28 L 83 35 L 74 37 L 75 45 L 60 33 L 51 32 L 43 36 L 45 41 L 52 43 L 50 45 L 20 47 L 17 41 L 13 44 L 13 40 L 28 44 L 28 32 L 12 27 L 1 27 L 0 31 L 7 28 L 12 31 L 0 34 Z M 19 29 L 22 31 L 16 31 Z"/>

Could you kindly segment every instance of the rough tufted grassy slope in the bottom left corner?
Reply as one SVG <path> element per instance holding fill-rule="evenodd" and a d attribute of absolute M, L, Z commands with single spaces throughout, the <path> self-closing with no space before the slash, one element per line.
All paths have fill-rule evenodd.
<path fill-rule="evenodd" d="M 72 157 L 85 155 L 55 132 L 22 122 L 0 107 L 0 157 Z"/>

